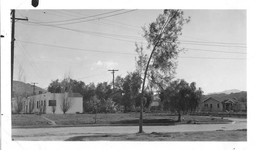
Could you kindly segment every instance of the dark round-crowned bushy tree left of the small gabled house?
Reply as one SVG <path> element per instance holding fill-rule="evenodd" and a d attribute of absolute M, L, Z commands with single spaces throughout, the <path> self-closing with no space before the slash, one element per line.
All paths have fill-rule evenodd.
<path fill-rule="evenodd" d="M 163 101 L 170 109 L 177 111 L 178 122 L 181 122 L 181 112 L 187 114 L 200 109 L 203 99 L 203 91 L 196 88 L 196 83 L 190 85 L 184 80 L 171 82 L 163 91 Z"/>

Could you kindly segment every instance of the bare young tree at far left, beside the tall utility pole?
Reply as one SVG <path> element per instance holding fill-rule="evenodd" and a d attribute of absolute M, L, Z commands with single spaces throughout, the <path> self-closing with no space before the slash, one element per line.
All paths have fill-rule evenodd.
<path fill-rule="evenodd" d="M 16 105 L 14 107 L 17 113 L 20 113 L 24 109 L 25 107 L 24 97 L 26 97 L 27 95 L 22 82 L 26 82 L 26 76 L 22 66 L 19 66 L 18 82 L 15 87 L 16 88 L 16 92 L 15 92 Z"/>

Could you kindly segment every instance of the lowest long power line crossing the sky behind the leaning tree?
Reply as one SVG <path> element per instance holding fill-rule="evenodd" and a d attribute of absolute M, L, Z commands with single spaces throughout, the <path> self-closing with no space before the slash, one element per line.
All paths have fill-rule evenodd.
<path fill-rule="evenodd" d="M 28 42 L 28 41 L 21 41 L 20 42 L 26 42 L 26 43 L 32 43 L 32 44 L 38 44 L 38 45 L 45 45 L 45 46 L 52 46 L 52 47 L 59 47 L 59 48 L 67 48 L 67 49 L 75 49 L 79 51 L 90 51 L 90 52 L 101 52 L 101 53 L 112 53 L 112 54 L 124 54 L 124 55 L 137 55 L 137 54 L 132 54 L 132 53 L 119 53 L 119 52 L 108 52 L 108 51 L 94 51 L 94 50 L 89 50 L 89 49 L 81 49 L 81 48 L 72 48 L 72 47 L 63 47 L 63 46 L 55 46 L 55 45 L 49 45 L 49 44 L 41 44 L 41 43 L 35 43 L 35 42 Z M 203 51 L 203 49 L 197 49 Z M 210 51 L 210 50 L 206 50 Z M 220 51 L 221 52 L 221 51 Z M 225 52 L 223 52 L 225 53 Z M 196 58 L 196 57 L 181 57 L 181 58 Z M 198 57 L 200 58 L 200 57 Z M 205 58 L 205 57 L 204 57 Z M 206 57 L 208 58 L 208 57 Z M 237 59 L 237 58 L 209 58 L 209 59 Z"/>

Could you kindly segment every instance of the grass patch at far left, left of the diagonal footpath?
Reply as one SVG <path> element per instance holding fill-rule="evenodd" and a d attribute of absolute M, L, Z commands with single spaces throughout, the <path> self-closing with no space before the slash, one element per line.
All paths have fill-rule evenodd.
<path fill-rule="evenodd" d="M 12 115 L 12 126 L 40 126 L 49 125 L 49 121 L 34 114 Z"/>

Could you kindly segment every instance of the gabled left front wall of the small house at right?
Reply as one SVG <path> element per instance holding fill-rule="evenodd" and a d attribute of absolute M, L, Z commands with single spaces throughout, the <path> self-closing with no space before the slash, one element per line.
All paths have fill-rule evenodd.
<path fill-rule="evenodd" d="M 208 107 L 205 107 L 205 104 L 208 104 Z M 212 108 L 210 108 L 210 104 L 212 104 Z M 217 107 L 217 104 L 220 105 L 220 107 L 218 108 Z M 206 101 L 203 102 L 203 106 L 202 106 L 202 111 L 222 111 L 223 108 L 222 108 L 222 103 L 217 101 L 216 99 L 214 98 L 209 98 L 207 99 Z"/>

